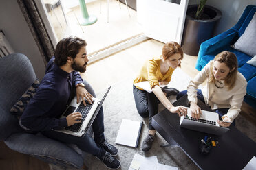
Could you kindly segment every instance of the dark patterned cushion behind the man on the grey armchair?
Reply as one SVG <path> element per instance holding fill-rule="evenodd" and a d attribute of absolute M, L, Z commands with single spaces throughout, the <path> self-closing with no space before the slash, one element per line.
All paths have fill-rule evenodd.
<path fill-rule="evenodd" d="M 28 90 L 25 91 L 19 101 L 17 101 L 17 103 L 12 106 L 10 112 L 18 117 L 21 116 L 30 99 L 32 99 L 32 97 L 36 94 L 37 88 L 39 88 L 38 79 L 36 79 L 36 81 L 34 81 L 34 83 L 28 88 Z"/>

